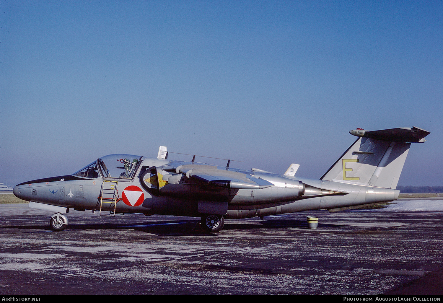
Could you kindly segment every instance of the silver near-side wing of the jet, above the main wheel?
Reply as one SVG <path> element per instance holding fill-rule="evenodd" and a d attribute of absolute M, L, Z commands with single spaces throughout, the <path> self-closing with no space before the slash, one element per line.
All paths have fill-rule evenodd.
<path fill-rule="evenodd" d="M 211 185 L 236 189 L 262 189 L 274 184 L 260 178 L 255 178 L 237 171 L 218 169 L 213 165 L 184 164 L 172 165 L 177 174 L 182 173 L 187 178 L 195 178 Z"/>

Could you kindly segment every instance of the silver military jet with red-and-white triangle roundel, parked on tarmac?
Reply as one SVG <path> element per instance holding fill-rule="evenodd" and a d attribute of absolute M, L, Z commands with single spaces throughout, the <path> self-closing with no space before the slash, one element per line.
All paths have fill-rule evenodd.
<path fill-rule="evenodd" d="M 280 175 L 191 161 L 107 155 L 72 175 L 20 183 L 14 194 L 29 207 L 54 211 L 55 231 L 68 224 L 70 209 L 100 214 L 165 214 L 201 217 L 202 229 L 218 232 L 225 219 L 252 218 L 304 210 L 330 211 L 396 200 L 397 182 L 412 142 L 430 132 L 418 127 L 351 130 L 357 140 L 319 179 L 295 177 L 299 165 Z"/>

